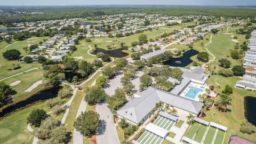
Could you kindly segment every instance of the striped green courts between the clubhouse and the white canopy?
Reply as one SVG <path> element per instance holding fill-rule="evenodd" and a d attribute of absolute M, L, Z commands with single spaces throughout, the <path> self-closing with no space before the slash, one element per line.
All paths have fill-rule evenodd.
<path fill-rule="evenodd" d="M 165 118 L 163 116 L 158 116 L 156 120 L 153 122 L 153 124 L 162 127 L 165 130 L 170 131 L 171 127 L 174 125 L 175 122 L 172 120 Z"/>

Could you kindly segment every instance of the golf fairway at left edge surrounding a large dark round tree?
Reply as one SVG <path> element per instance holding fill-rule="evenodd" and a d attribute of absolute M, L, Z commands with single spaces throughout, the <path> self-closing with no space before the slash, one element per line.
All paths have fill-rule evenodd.
<path fill-rule="evenodd" d="M 33 37 L 30 39 L 25 39 L 23 41 L 12 41 L 11 44 L 7 44 L 5 41 L 0 42 L 0 68 L 2 69 L 0 71 L 0 79 L 15 75 L 18 73 L 22 73 L 23 71 L 35 68 L 35 67 L 41 67 L 40 63 L 20 63 L 18 60 L 6 60 L 3 58 L 2 53 L 5 52 L 6 50 L 10 49 L 17 49 L 21 52 L 21 57 L 28 55 L 28 53 L 25 52 L 22 48 L 27 46 L 28 44 L 38 44 L 40 41 L 43 41 L 44 38 L 49 38 L 49 37 Z M 9 46 L 8 46 L 9 45 Z M 7 46 L 7 47 L 6 47 Z M 20 64 L 21 68 L 17 70 L 11 70 L 8 71 L 7 69 L 12 69 L 13 64 L 17 65 Z"/>

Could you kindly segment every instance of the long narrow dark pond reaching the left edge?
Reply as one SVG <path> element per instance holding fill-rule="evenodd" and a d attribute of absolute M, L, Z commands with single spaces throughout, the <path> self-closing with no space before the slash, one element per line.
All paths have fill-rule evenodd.
<path fill-rule="evenodd" d="M 15 105 L 6 107 L 0 113 L 0 117 L 3 117 L 6 114 L 9 114 L 9 113 L 13 112 L 16 109 L 25 107 L 26 105 L 32 104 L 32 103 L 34 103 L 36 101 L 55 98 L 55 97 L 57 97 L 57 94 L 58 94 L 58 91 L 60 90 L 60 88 L 61 87 L 53 87 L 51 89 L 47 89 L 47 90 L 41 91 L 39 93 L 36 93 L 36 94 L 32 95 L 31 97 L 29 97 L 26 100 L 19 101 Z"/>

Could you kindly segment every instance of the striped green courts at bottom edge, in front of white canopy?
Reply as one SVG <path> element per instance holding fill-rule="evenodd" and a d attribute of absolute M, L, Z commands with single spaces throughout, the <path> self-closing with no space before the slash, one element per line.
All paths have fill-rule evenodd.
<path fill-rule="evenodd" d="M 149 131 L 145 131 L 141 134 L 137 142 L 141 144 L 160 144 L 163 138 L 159 137 L 158 135 L 151 133 Z"/>

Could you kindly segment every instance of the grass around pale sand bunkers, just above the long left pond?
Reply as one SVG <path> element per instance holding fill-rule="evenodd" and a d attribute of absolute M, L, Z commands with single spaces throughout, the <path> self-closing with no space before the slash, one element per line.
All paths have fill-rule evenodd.
<path fill-rule="evenodd" d="M 43 79 L 43 70 L 42 69 L 34 69 L 31 71 L 28 71 L 27 73 L 20 74 L 8 79 L 5 79 L 3 82 L 5 82 L 7 85 L 9 85 L 12 82 L 15 81 L 21 81 L 19 84 L 10 86 L 13 90 L 15 90 L 17 93 L 12 95 L 12 100 L 14 102 L 19 101 L 29 94 L 39 90 L 43 87 L 43 85 L 39 85 L 36 89 L 32 90 L 31 92 L 25 92 L 25 90 L 28 89 L 32 84 L 35 82 Z"/>

